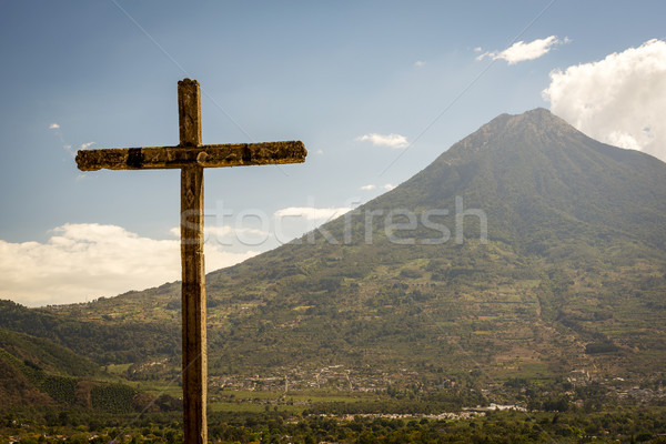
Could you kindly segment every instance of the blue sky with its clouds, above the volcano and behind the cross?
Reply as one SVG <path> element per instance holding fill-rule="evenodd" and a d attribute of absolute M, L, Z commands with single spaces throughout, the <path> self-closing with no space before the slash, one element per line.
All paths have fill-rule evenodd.
<path fill-rule="evenodd" d="M 72 153 L 176 144 L 180 79 L 201 83 L 204 143 L 309 149 L 301 165 L 206 170 L 211 271 L 400 184 L 503 112 L 548 108 L 665 159 L 664 17 L 659 1 L 9 2 L 0 297 L 179 278 L 178 171 L 81 173 Z"/>

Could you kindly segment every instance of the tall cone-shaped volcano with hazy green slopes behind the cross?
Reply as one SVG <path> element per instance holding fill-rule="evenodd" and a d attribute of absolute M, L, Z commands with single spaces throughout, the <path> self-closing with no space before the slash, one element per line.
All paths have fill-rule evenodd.
<path fill-rule="evenodd" d="M 210 373 L 649 377 L 666 363 L 665 271 L 666 164 L 543 109 L 502 114 L 354 213 L 209 274 Z M 173 356 L 179 291 L 21 309 L 84 322 L 94 346 L 0 319 L 98 362 Z"/>

